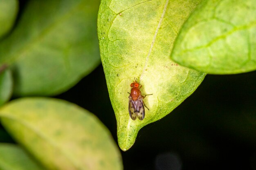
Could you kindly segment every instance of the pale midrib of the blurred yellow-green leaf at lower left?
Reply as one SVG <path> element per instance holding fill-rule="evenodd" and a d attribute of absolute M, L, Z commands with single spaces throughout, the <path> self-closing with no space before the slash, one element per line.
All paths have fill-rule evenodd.
<path fill-rule="evenodd" d="M 67 157 L 67 159 L 70 160 L 70 162 L 74 165 L 74 167 L 76 167 L 78 170 L 82 170 L 80 167 L 83 167 L 82 165 L 79 165 L 76 163 L 76 161 L 74 159 L 72 159 L 72 156 L 69 152 L 62 150 L 60 147 L 58 147 L 58 144 L 55 143 L 54 141 L 50 140 L 49 138 L 47 138 L 47 136 L 45 136 L 43 133 L 41 133 L 39 130 L 37 130 L 36 128 L 33 128 L 33 126 L 31 126 L 28 122 L 26 121 L 22 121 L 16 117 L 13 116 L 7 116 L 4 114 L 0 113 L 0 118 L 7 118 L 7 119 L 11 119 L 13 121 L 17 121 L 18 123 L 22 124 L 23 126 L 25 126 L 26 128 L 30 129 L 31 131 L 33 131 L 38 137 L 40 137 L 42 140 L 48 142 L 50 145 L 54 146 L 54 148 L 56 148 L 57 150 L 59 150 L 63 155 L 65 155 L 65 157 Z"/>

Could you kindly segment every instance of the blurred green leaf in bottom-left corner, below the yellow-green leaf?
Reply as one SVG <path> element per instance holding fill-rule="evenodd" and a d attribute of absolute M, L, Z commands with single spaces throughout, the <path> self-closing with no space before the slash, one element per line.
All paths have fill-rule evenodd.
<path fill-rule="evenodd" d="M 19 146 L 0 143 L 1 170 L 45 170 Z"/>

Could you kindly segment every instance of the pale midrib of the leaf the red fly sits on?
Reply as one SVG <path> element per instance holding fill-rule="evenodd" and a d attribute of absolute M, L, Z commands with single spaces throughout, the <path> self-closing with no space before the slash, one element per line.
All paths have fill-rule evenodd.
<path fill-rule="evenodd" d="M 142 74 L 141 74 L 141 76 L 140 76 L 140 80 L 143 79 L 144 72 L 146 71 L 146 68 L 147 68 L 147 66 L 148 66 L 148 60 L 149 60 L 150 54 L 151 54 L 151 52 L 152 52 L 153 46 L 154 46 L 154 44 L 155 44 L 155 39 L 157 38 L 157 33 L 158 33 L 159 29 L 160 29 L 160 26 L 161 26 L 161 24 L 162 24 L 164 15 L 165 15 L 165 13 L 166 13 L 166 9 L 167 9 L 168 3 L 169 3 L 169 0 L 166 0 L 165 5 L 164 5 L 164 9 L 163 9 L 163 12 L 162 12 L 162 15 L 161 15 L 161 18 L 160 18 L 160 20 L 159 20 L 159 22 L 158 22 L 157 29 L 155 30 L 155 35 L 154 35 L 154 37 L 153 37 L 152 43 L 151 43 L 150 48 L 149 48 L 149 51 L 148 51 L 148 55 L 147 55 L 147 57 L 146 57 L 146 62 L 145 62 L 145 65 L 144 65 Z"/>

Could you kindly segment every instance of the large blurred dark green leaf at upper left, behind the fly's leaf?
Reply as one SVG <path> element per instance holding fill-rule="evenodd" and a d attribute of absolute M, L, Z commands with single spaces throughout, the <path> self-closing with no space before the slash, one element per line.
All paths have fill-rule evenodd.
<path fill-rule="evenodd" d="M 0 43 L 15 95 L 56 95 L 100 63 L 99 0 L 31 0 L 13 33 Z"/>

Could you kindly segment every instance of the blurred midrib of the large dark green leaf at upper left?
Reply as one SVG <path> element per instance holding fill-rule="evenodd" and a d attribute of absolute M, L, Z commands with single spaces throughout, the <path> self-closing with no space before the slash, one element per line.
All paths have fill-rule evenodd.
<path fill-rule="evenodd" d="M 76 10 L 81 9 L 83 6 L 85 6 L 87 3 L 86 2 L 80 2 L 77 4 L 75 7 L 73 7 L 70 11 L 68 11 L 65 15 L 62 15 L 59 18 L 56 18 L 52 24 L 50 24 L 47 28 L 41 31 L 41 33 L 36 36 L 36 38 L 31 39 L 29 42 L 26 43 L 26 45 L 22 46 L 19 50 L 17 50 L 14 53 L 9 53 L 6 57 L 4 57 L 4 60 L 2 60 L 1 63 L 11 65 L 13 64 L 20 56 L 25 56 L 27 51 L 30 51 L 31 49 L 34 48 L 34 46 L 42 40 L 45 35 L 50 33 L 52 30 L 54 30 L 55 27 L 58 25 L 61 25 L 63 21 L 68 20 L 74 13 L 76 13 Z M 33 45 L 31 45 L 33 44 Z M 9 59 L 9 60 L 8 60 Z"/>

